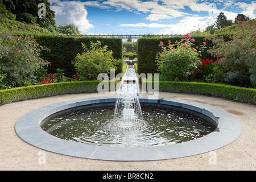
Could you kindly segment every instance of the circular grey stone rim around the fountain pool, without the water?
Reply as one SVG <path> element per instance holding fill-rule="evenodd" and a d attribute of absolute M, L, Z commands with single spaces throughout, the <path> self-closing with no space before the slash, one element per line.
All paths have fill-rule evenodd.
<path fill-rule="evenodd" d="M 139 97 L 139 101 L 142 103 L 177 106 L 197 111 L 215 121 L 217 128 L 204 137 L 183 143 L 150 147 L 113 147 L 60 139 L 46 133 L 40 127 L 40 122 L 60 111 L 92 104 L 104 105 L 109 102 L 115 102 L 116 100 L 117 97 L 115 96 L 92 97 L 40 107 L 20 118 L 16 122 L 15 131 L 25 142 L 42 150 L 77 158 L 117 161 L 163 160 L 203 154 L 232 143 L 242 133 L 242 125 L 238 119 L 216 107 L 174 98 L 156 99 L 150 97 Z"/>

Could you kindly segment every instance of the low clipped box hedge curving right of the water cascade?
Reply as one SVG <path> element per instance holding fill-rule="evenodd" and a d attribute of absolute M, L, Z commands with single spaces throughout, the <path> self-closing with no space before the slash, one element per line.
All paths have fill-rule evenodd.
<path fill-rule="evenodd" d="M 201 82 L 159 82 L 160 92 L 202 94 L 256 105 L 256 89 Z"/>

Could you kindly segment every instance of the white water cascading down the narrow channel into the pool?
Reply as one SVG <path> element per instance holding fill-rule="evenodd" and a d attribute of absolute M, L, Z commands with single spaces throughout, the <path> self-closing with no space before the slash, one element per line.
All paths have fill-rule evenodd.
<path fill-rule="evenodd" d="M 134 67 L 128 66 L 117 90 L 112 126 L 120 130 L 138 130 L 146 126 L 139 104 L 139 86 Z"/>

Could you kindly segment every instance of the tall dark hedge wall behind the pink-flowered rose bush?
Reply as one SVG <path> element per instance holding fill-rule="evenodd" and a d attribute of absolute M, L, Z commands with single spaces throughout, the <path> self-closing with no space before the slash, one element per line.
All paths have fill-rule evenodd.
<path fill-rule="evenodd" d="M 212 58 L 207 50 L 212 46 L 212 42 L 206 41 L 204 36 L 193 36 L 195 39 L 194 47 L 200 46 L 203 42 L 206 42 L 207 48 L 203 52 L 202 59 Z M 138 39 L 138 73 L 157 73 L 157 65 L 155 63 L 156 53 L 161 51 L 159 47 L 160 42 L 163 42 L 165 46 L 168 46 L 170 40 L 172 44 L 176 41 L 184 39 L 183 36 L 165 37 L 165 38 L 140 38 Z"/>

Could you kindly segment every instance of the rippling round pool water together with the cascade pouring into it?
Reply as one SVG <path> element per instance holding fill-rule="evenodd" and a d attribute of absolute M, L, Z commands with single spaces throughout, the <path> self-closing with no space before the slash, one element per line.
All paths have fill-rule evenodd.
<path fill-rule="evenodd" d="M 128 67 L 117 90 L 117 100 L 106 106 L 71 110 L 44 121 L 42 129 L 66 140 L 100 146 L 146 147 L 186 142 L 216 129 L 193 114 L 139 102 L 138 77 Z M 143 116 L 142 116 L 143 111 Z"/>

